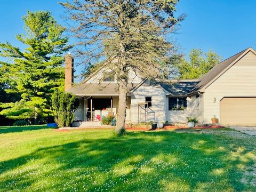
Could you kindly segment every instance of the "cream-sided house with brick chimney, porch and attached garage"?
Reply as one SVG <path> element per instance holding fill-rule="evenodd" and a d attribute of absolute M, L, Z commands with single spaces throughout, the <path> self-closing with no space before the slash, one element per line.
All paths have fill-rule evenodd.
<path fill-rule="evenodd" d="M 66 57 L 66 91 L 81 97 L 75 120 L 99 123 L 118 109 L 118 82 L 100 79 L 101 68 L 82 83 L 73 83 L 73 58 Z M 133 71 L 129 75 L 126 122 L 186 123 L 187 117 L 210 124 L 256 124 L 256 52 L 250 47 L 218 63 L 200 79 L 151 84 Z"/>

